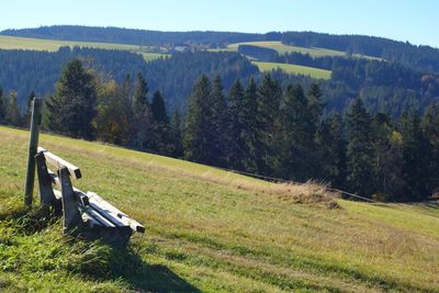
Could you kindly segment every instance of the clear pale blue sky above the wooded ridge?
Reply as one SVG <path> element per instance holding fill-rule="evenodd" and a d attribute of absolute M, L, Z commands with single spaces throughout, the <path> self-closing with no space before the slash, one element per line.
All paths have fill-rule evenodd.
<path fill-rule="evenodd" d="M 438 0 L 5 0 L 0 30 L 53 24 L 160 31 L 315 31 L 439 47 Z"/>

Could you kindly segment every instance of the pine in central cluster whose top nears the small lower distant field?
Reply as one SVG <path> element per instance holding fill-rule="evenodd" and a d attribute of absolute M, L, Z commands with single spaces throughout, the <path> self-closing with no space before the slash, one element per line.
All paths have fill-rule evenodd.
<path fill-rule="evenodd" d="M 261 174 L 273 174 L 279 167 L 279 108 L 282 90 L 271 75 L 263 77 L 258 89 L 257 121 L 260 140 L 256 147 L 258 171 Z"/>

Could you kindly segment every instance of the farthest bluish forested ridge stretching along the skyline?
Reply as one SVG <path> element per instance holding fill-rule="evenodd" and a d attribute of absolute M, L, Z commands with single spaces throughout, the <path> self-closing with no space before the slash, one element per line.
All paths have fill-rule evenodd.
<path fill-rule="evenodd" d="M 160 32 L 121 27 L 54 25 L 35 29 L 4 30 L 1 35 L 63 41 L 105 42 L 142 46 L 204 45 L 210 48 L 227 44 L 258 41 L 282 41 L 300 47 L 319 47 L 361 54 L 407 65 L 421 71 L 439 74 L 439 49 L 412 45 L 383 37 L 365 35 L 334 35 L 314 32 L 270 32 L 251 34 L 238 32 Z"/>

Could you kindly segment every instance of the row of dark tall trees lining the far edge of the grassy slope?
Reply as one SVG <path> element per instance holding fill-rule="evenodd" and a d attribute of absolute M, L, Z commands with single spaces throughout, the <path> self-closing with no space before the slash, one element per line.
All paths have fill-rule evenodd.
<path fill-rule="evenodd" d="M 392 117 L 369 113 L 356 99 L 344 115 L 324 115 L 316 83 L 283 87 L 264 75 L 236 80 L 225 94 L 219 77 L 202 75 L 180 115 L 160 91 L 149 92 L 142 74 L 119 82 L 74 59 L 47 98 L 44 127 L 250 173 L 328 182 L 380 201 L 424 201 L 438 191 L 437 102 L 424 114 Z M 16 93 L 0 95 L 0 122 L 27 125 Z"/>

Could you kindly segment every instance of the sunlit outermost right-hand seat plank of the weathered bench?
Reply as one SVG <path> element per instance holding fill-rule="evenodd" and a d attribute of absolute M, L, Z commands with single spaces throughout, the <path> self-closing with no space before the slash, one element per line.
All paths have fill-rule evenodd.
<path fill-rule="evenodd" d="M 145 232 L 145 227 L 142 224 L 130 218 L 125 213 L 104 201 L 97 193 L 88 191 L 87 195 L 89 198 L 90 205 L 100 213 L 105 213 L 108 216 L 111 216 L 112 221 L 117 219 L 119 222 L 123 223 L 124 226 L 130 226 L 134 232 Z"/>

